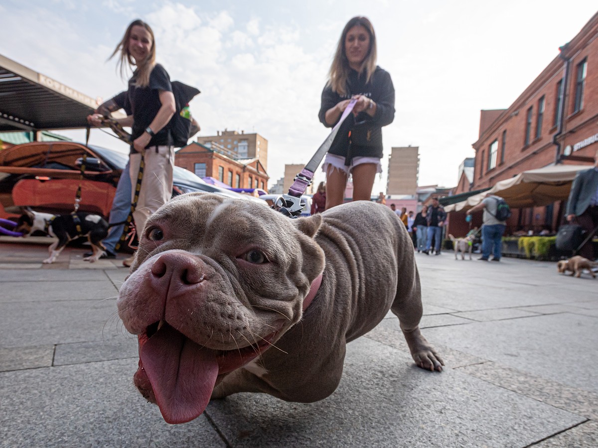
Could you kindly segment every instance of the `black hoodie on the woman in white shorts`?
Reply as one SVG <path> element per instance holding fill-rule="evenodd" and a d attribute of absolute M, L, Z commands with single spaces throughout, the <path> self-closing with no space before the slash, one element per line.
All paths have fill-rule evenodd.
<path fill-rule="evenodd" d="M 355 118 L 353 115 L 347 116 L 337 136 L 334 137 L 328 152 L 345 157 L 347 165 L 353 157 L 382 158 L 382 127 L 392 123 L 395 118 L 395 88 L 389 73 L 376 67 L 370 82 L 366 83 L 364 74 L 359 76 L 351 69 L 347 79 L 346 95 L 340 96 L 333 92 L 330 86 L 324 87 L 318 114 L 322 124 L 332 127 L 326 123 L 326 111 L 341 100 L 350 99 L 353 95 L 365 95 L 374 100 L 376 114 L 370 116 L 365 112 L 359 112 Z"/>

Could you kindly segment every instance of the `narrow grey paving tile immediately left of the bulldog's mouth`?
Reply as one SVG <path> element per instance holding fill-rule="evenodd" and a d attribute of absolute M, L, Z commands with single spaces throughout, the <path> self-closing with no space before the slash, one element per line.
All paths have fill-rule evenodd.
<path fill-rule="evenodd" d="M 123 329 L 124 332 L 124 329 Z M 138 358 L 137 337 L 129 335 L 56 346 L 54 366 Z"/>

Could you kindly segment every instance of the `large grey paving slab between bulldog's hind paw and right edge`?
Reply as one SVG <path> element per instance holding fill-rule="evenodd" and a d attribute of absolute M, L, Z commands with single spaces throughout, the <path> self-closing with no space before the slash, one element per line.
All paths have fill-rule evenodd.
<path fill-rule="evenodd" d="M 562 384 L 598 392 L 598 320 L 538 315 L 426 329 L 428 340 Z"/>

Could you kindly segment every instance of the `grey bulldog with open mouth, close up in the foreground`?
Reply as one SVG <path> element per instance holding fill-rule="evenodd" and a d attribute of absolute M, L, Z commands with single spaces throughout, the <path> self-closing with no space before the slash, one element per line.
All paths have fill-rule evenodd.
<path fill-rule="evenodd" d="M 138 335 L 135 385 L 171 424 L 237 392 L 328 397 L 347 342 L 389 309 L 416 364 L 444 365 L 418 327 L 411 238 L 373 202 L 289 219 L 255 202 L 181 195 L 149 217 L 117 304 Z"/>

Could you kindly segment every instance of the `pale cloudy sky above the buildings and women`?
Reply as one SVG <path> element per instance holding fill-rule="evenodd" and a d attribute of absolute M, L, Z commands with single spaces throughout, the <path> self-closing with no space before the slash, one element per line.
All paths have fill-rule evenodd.
<path fill-rule="evenodd" d="M 419 146 L 419 185 L 455 186 L 480 111 L 508 108 L 597 11 L 595 0 L 2 0 L 0 54 L 109 99 L 126 79 L 108 58 L 128 24 L 145 20 L 170 78 L 202 91 L 190 105 L 199 135 L 266 138 L 271 186 L 327 137 L 318 111 L 332 56 L 344 24 L 366 16 L 395 86 L 376 193 L 393 146 Z M 84 131 L 60 133 L 84 141 Z M 99 130 L 90 143 L 127 152 Z"/>

